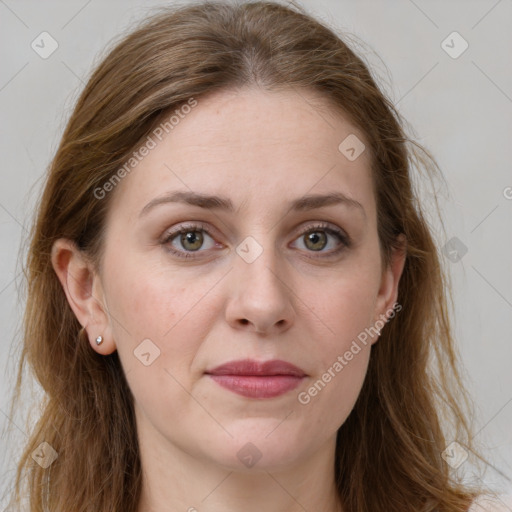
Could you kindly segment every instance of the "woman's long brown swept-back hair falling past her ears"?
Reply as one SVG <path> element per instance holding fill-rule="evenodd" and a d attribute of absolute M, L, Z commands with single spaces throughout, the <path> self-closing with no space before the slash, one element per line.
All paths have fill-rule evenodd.
<path fill-rule="evenodd" d="M 68 238 L 100 268 L 105 185 L 134 148 L 190 98 L 259 87 L 310 91 L 362 130 L 371 154 L 385 262 L 405 235 L 400 313 L 372 347 L 357 402 L 339 428 L 335 478 L 347 512 L 467 511 L 477 495 L 442 458 L 471 443 L 469 404 L 449 321 L 450 294 L 413 169 L 438 172 L 344 38 L 301 7 L 271 1 L 166 7 L 117 41 L 81 93 L 49 166 L 24 266 L 27 299 L 15 397 L 28 364 L 44 390 L 15 479 L 30 512 L 135 512 L 142 468 L 133 395 L 116 352 L 89 345 L 51 264 Z M 340 141 L 341 142 L 341 141 Z M 108 392 L 106 392 L 108 390 Z M 449 437 L 452 436 L 452 437 Z M 41 442 L 58 458 L 32 460 Z M 23 482 L 24 481 L 24 482 Z"/>

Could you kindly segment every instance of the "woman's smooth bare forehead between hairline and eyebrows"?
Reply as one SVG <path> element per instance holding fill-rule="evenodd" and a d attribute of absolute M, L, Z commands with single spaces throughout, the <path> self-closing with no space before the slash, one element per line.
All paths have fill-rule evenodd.
<path fill-rule="evenodd" d="M 333 190 L 371 202 L 364 134 L 314 92 L 246 88 L 196 101 L 173 123 L 164 124 L 174 112 L 163 118 L 114 201 L 140 206 L 179 189 L 230 195 L 237 209 Z"/>

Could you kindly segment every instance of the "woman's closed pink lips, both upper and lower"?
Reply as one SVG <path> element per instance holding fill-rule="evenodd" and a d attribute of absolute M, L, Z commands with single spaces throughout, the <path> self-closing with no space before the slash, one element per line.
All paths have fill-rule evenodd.
<path fill-rule="evenodd" d="M 273 398 L 296 388 L 306 374 L 291 363 L 275 359 L 231 361 L 206 372 L 217 384 L 248 398 Z"/>

